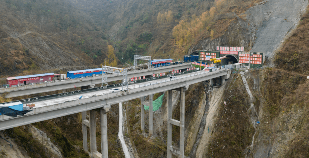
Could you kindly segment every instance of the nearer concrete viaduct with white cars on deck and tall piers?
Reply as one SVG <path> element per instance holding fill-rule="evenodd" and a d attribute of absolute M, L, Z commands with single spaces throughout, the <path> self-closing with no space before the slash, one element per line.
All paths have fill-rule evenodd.
<path fill-rule="evenodd" d="M 44 121 L 52 118 L 66 116 L 82 112 L 83 119 L 83 148 L 88 152 L 87 148 L 87 126 L 90 129 L 90 156 L 92 158 L 108 158 L 108 146 L 107 146 L 107 116 L 110 109 L 110 105 L 119 102 L 129 101 L 135 98 L 141 98 L 141 126 L 144 130 L 144 105 L 150 106 L 150 127 L 149 135 L 152 135 L 152 94 L 167 91 L 167 103 L 168 103 L 168 114 L 167 114 L 167 157 L 171 158 L 172 152 L 184 157 L 184 94 L 188 89 L 188 86 L 201 81 L 210 80 L 210 84 L 213 83 L 213 79 L 217 77 L 222 78 L 222 83 L 225 79 L 230 77 L 231 70 L 220 69 L 214 72 L 206 73 L 203 71 L 197 71 L 193 73 L 187 73 L 178 76 L 177 78 L 167 79 L 162 78 L 151 82 L 142 82 L 138 85 L 133 85 L 133 88 L 129 88 L 127 91 L 118 93 L 98 95 L 85 99 L 77 99 L 80 96 L 70 96 L 73 100 L 62 103 L 56 103 L 49 106 L 42 106 L 35 108 L 28 112 L 24 116 L 10 117 L 6 115 L 0 115 L 0 130 L 5 130 L 12 127 L 18 127 L 30 123 Z M 180 91 L 180 120 L 172 119 L 172 107 L 171 107 L 171 92 L 172 90 Z M 96 91 L 99 93 L 99 91 Z M 150 102 L 145 102 L 144 97 L 150 97 Z M 57 99 L 57 98 L 54 98 Z M 51 101 L 47 100 L 47 101 Z M 34 102 L 36 103 L 36 102 Z M 39 103 L 39 102 L 38 102 Z M 37 103 L 36 103 L 37 104 Z M 89 120 L 86 119 L 86 111 L 89 110 Z M 95 112 L 100 113 L 100 124 L 101 124 L 101 147 L 102 154 L 97 151 L 96 146 L 96 129 L 95 129 Z M 172 125 L 180 127 L 180 147 L 172 146 L 171 144 L 171 130 Z"/>

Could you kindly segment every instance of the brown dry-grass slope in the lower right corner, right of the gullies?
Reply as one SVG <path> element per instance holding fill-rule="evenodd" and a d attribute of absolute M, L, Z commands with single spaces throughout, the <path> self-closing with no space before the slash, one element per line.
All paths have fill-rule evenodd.
<path fill-rule="evenodd" d="M 273 128 L 265 130 L 271 131 L 272 140 L 279 143 L 281 143 L 280 139 L 288 140 L 285 144 L 286 150 L 279 153 L 284 155 L 283 157 L 308 157 L 309 81 L 305 75 L 280 69 L 266 71 L 269 74 L 264 78 L 261 86 L 263 87 L 261 94 L 266 100 L 263 111 L 266 116 L 270 116 L 268 121 Z M 291 136 L 282 137 L 289 133 Z"/>

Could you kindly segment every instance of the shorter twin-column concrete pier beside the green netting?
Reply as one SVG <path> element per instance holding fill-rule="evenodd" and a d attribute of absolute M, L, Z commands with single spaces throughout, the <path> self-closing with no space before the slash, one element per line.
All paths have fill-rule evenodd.
<path fill-rule="evenodd" d="M 152 111 L 152 94 L 149 95 L 149 102 L 145 102 L 145 97 L 141 97 L 141 129 L 145 131 L 145 105 L 149 106 L 149 136 L 153 134 L 153 111 Z"/>

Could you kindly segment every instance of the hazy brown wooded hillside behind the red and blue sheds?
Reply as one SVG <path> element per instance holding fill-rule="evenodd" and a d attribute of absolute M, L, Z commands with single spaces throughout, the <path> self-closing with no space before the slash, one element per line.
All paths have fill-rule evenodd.
<path fill-rule="evenodd" d="M 0 8 L 2 76 L 117 65 L 108 36 L 70 2 L 6 0 Z"/>

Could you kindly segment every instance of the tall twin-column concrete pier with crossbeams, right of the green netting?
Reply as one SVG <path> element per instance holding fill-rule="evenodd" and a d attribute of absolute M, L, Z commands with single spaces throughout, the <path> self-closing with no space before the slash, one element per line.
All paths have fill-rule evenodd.
<path fill-rule="evenodd" d="M 184 92 L 189 86 L 177 88 L 180 91 L 180 121 L 172 119 L 172 90 L 167 91 L 167 158 L 172 157 L 172 152 L 184 158 Z M 172 146 L 172 125 L 180 127 L 179 148 Z"/>

